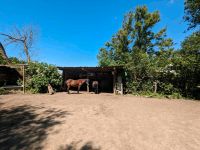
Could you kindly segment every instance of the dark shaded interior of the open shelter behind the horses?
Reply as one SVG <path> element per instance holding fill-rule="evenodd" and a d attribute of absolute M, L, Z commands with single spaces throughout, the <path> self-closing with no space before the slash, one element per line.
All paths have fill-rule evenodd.
<path fill-rule="evenodd" d="M 92 89 L 92 82 L 99 82 L 99 92 L 113 93 L 114 72 L 121 72 L 120 67 L 58 67 L 63 71 L 63 89 L 66 90 L 67 79 L 89 79 L 89 88 Z M 77 90 L 77 88 L 70 88 Z M 81 91 L 87 91 L 87 85 L 83 84 Z"/>

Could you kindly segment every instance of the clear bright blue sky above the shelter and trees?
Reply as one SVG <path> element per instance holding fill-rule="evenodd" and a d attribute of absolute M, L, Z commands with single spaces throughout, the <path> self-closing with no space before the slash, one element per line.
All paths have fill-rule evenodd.
<path fill-rule="evenodd" d="M 189 33 L 183 22 L 183 0 L 0 0 L 0 31 L 14 26 L 38 29 L 33 59 L 57 66 L 97 66 L 99 48 L 121 27 L 123 16 L 138 5 L 160 11 L 155 30 L 167 27 L 175 47 Z M 22 57 L 18 47 L 6 46 L 9 56 Z"/>

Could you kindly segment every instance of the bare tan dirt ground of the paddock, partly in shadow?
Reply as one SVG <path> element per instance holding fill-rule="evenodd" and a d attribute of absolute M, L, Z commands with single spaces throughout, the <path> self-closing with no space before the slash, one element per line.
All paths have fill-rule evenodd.
<path fill-rule="evenodd" d="M 0 96 L 1 150 L 199 150 L 200 102 L 112 94 Z"/>

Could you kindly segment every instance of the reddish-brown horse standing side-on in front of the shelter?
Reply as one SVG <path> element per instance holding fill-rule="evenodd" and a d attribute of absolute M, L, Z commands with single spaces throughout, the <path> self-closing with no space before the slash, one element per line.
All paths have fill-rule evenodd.
<path fill-rule="evenodd" d="M 70 94 L 69 93 L 70 87 L 78 87 L 77 93 L 79 93 L 79 90 L 84 83 L 88 84 L 89 83 L 88 79 L 78 79 L 78 80 L 68 79 L 67 81 L 65 81 L 65 84 L 67 85 L 68 94 Z"/>

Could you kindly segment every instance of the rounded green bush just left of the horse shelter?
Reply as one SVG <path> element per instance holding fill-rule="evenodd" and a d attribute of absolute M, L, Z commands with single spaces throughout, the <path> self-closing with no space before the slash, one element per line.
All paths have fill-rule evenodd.
<path fill-rule="evenodd" d="M 61 75 L 53 65 L 32 62 L 26 68 L 26 88 L 32 93 L 47 92 L 48 84 L 57 91 L 60 89 L 61 82 Z"/>

